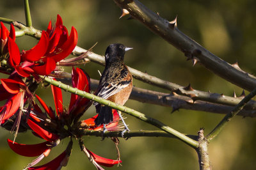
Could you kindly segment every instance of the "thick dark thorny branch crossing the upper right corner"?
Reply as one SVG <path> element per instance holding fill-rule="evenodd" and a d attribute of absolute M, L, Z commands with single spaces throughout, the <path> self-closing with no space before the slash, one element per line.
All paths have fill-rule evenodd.
<path fill-rule="evenodd" d="M 193 64 L 198 61 L 201 65 L 223 79 L 237 86 L 252 91 L 256 87 L 256 77 L 244 72 L 238 65 L 230 65 L 218 58 L 209 50 L 184 35 L 177 28 L 177 18 L 171 22 L 152 12 L 138 0 L 113 0 L 121 9 L 127 10 L 132 18 L 139 20 L 152 32 L 161 36 L 168 43 L 184 52 Z"/>

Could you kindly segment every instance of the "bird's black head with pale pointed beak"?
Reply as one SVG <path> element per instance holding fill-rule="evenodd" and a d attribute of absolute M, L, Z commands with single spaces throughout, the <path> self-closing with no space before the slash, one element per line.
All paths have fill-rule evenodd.
<path fill-rule="evenodd" d="M 113 63 L 115 61 L 124 61 L 125 51 L 132 48 L 125 47 L 122 43 L 112 43 L 108 46 L 105 53 L 106 64 Z"/>

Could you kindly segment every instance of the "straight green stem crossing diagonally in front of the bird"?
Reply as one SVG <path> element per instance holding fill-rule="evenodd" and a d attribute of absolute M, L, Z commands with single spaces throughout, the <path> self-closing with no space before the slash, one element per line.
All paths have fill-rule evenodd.
<path fill-rule="evenodd" d="M 131 116 L 134 116 L 135 118 L 138 118 L 139 120 L 143 120 L 143 121 L 145 121 L 145 122 L 147 122 L 151 125 L 154 125 L 155 127 L 160 128 L 164 132 L 175 135 L 177 137 L 177 139 L 180 139 L 180 141 L 188 144 L 189 146 L 191 146 L 193 148 L 198 147 L 198 142 L 197 141 L 191 139 L 190 137 L 187 137 L 184 134 L 181 134 L 180 132 L 178 132 L 177 130 L 174 130 L 171 127 L 168 127 L 167 125 L 165 125 L 161 121 L 158 121 L 158 120 L 155 120 L 154 118 L 150 118 L 150 117 L 146 116 L 145 114 L 143 114 L 141 112 L 134 111 L 134 109 L 131 109 L 129 107 L 125 107 L 125 106 L 122 106 L 122 105 L 117 105 L 114 102 L 111 102 L 109 100 L 105 100 L 103 98 L 97 97 L 97 96 L 95 96 L 91 93 L 86 93 L 85 91 L 81 91 L 77 88 L 71 88 L 70 86 L 67 86 L 66 84 L 63 84 L 62 82 L 54 81 L 53 79 L 50 79 L 48 77 L 44 77 L 42 75 L 40 77 L 42 79 L 44 79 L 45 82 L 48 82 L 49 84 L 52 84 L 52 85 L 57 86 L 61 89 L 64 89 L 65 91 L 68 91 L 70 93 L 74 93 L 76 95 L 79 95 L 80 97 L 88 98 L 90 100 L 98 102 L 99 104 L 108 105 L 109 107 L 112 107 L 113 109 L 125 112 L 125 113 L 127 113 Z"/>

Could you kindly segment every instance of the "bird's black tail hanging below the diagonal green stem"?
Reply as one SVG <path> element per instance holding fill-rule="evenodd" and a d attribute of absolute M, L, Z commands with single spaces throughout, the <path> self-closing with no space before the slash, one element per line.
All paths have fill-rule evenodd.
<path fill-rule="evenodd" d="M 95 124 L 97 127 L 99 127 L 102 124 L 107 125 L 113 121 L 113 114 L 112 114 L 112 108 L 108 106 L 100 106 L 99 109 L 99 115 L 98 117 L 94 120 Z"/>

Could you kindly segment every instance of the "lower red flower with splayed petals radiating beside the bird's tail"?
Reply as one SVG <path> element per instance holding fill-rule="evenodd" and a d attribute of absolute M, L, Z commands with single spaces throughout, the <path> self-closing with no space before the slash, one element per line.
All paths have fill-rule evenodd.
<path fill-rule="evenodd" d="M 20 82 L 22 84 L 22 82 Z M 80 68 L 73 68 L 72 70 L 72 85 L 74 88 L 78 88 L 81 90 L 84 90 L 86 92 L 90 92 L 90 77 L 86 73 L 83 72 Z M 5 86 L 5 85 L 3 85 Z M 17 93 L 18 88 L 16 86 L 8 86 L 10 89 L 8 91 L 12 91 L 12 93 Z M 42 98 L 38 97 L 36 95 L 36 98 L 44 108 L 45 112 L 44 114 L 40 107 L 38 107 L 37 104 L 33 104 L 33 109 L 31 109 L 30 112 L 30 118 L 28 120 L 29 127 L 33 130 L 33 133 L 41 137 L 42 139 L 45 139 L 46 141 L 44 143 L 39 144 L 18 144 L 13 143 L 8 139 L 8 144 L 10 148 L 12 148 L 13 151 L 18 153 L 19 155 L 23 155 L 25 157 L 36 157 L 31 164 L 28 164 L 26 168 L 28 169 L 58 169 L 62 166 L 65 166 L 68 161 L 68 157 L 71 153 L 72 144 L 68 144 L 67 149 L 61 153 L 58 157 L 54 158 L 51 162 L 38 167 L 33 167 L 35 164 L 40 162 L 42 158 L 49 155 L 49 152 L 51 151 L 51 148 L 54 146 L 57 146 L 60 143 L 60 140 L 64 137 L 72 137 L 72 123 L 74 120 L 76 120 L 77 116 L 81 116 L 86 109 L 90 106 L 91 102 L 90 100 L 86 98 L 78 97 L 77 95 L 72 94 L 70 98 L 70 106 L 68 111 L 66 111 L 63 100 L 62 100 L 62 93 L 61 89 L 52 86 L 52 94 L 54 97 L 54 104 L 56 107 L 56 115 L 54 114 L 54 111 L 51 109 L 51 107 L 48 107 L 45 102 L 42 100 Z M 113 123 L 109 123 L 107 125 L 108 130 L 111 130 L 118 125 L 118 114 L 115 110 L 113 110 L 114 114 L 114 121 Z M 102 127 L 96 127 L 94 123 L 94 119 L 97 116 L 94 116 L 93 118 L 90 118 L 88 120 L 84 120 L 83 122 L 86 123 L 86 128 L 92 129 L 92 130 L 102 130 Z M 92 123 L 90 123 L 92 122 Z M 90 125 L 89 125 L 90 123 Z M 68 130 L 64 127 L 68 127 Z M 70 142 L 72 143 L 72 142 Z M 86 151 L 91 155 L 91 157 L 94 160 L 95 166 L 97 166 L 99 169 L 102 169 L 100 165 L 102 166 L 114 166 L 115 164 L 120 163 L 120 160 L 112 160 L 108 158 L 100 157 L 99 155 L 96 155 L 95 153 L 92 153 L 92 151 L 89 151 L 86 149 Z M 96 162 L 96 163 L 95 163 Z"/>

